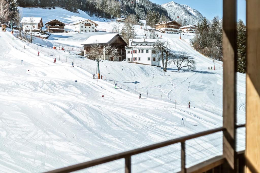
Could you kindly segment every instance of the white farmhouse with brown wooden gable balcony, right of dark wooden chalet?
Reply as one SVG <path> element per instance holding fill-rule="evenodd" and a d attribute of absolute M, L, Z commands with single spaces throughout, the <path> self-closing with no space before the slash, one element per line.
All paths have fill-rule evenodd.
<path fill-rule="evenodd" d="M 77 32 L 96 32 L 96 26 L 98 26 L 98 24 L 89 19 L 81 20 L 73 25 L 74 31 Z"/>

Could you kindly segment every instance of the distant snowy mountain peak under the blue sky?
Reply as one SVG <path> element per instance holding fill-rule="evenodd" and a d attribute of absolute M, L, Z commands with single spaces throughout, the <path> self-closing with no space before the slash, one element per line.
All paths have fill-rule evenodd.
<path fill-rule="evenodd" d="M 203 15 L 189 5 L 181 5 L 174 1 L 161 5 L 168 12 L 168 16 L 184 25 L 197 24 L 203 20 Z M 177 19 L 177 16 L 179 18 Z"/>

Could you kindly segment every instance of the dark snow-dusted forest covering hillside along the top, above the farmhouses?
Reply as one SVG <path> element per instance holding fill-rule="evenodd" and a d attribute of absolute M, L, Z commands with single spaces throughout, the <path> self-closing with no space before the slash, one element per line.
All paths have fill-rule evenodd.
<path fill-rule="evenodd" d="M 160 5 L 148 0 L 19 0 L 17 5 L 21 7 L 61 7 L 77 12 L 77 9 L 87 11 L 90 15 L 110 18 L 137 15 L 139 19 L 145 19 L 148 11 L 158 12 L 168 16 L 167 11 Z"/>

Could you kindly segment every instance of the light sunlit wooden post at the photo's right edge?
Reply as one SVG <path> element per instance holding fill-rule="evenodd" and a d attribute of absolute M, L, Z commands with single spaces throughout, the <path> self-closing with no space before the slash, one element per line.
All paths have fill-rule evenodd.
<path fill-rule="evenodd" d="M 260 1 L 246 1 L 246 172 L 260 170 Z"/>

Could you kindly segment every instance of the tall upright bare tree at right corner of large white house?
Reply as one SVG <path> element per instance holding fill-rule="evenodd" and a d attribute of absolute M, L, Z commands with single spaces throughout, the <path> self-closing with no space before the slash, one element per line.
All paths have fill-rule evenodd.
<path fill-rule="evenodd" d="M 169 41 L 157 40 L 153 45 L 153 49 L 156 51 L 156 53 L 159 53 L 158 60 L 162 61 L 163 71 L 167 72 L 168 60 L 172 53 Z"/>

